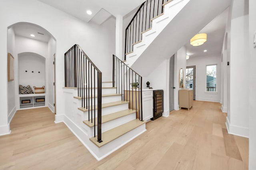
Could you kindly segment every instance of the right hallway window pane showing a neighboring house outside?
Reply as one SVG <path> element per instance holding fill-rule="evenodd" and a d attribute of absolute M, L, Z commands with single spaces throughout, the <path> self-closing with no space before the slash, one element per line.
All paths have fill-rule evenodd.
<path fill-rule="evenodd" d="M 216 92 L 217 64 L 206 66 L 206 92 Z"/>

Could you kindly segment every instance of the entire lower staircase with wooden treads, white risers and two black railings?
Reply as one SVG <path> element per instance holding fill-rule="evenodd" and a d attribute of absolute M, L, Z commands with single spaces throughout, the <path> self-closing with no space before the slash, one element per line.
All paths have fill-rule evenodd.
<path fill-rule="evenodd" d="M 114 55 L 112 67 L 113 80 L 102 82 L 100 70 L 79 45 L 65 53 L 64 123 L 98 160 L 146 131 L 142 106 L 130 106 L 124 98 L 132 91 L 128 80 L 142 77 Z"/>

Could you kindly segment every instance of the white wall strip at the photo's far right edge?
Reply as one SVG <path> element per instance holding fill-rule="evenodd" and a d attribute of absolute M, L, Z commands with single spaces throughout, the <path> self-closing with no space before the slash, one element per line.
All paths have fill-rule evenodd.
<path fill-rule="evenodd" d="M 249 0 L 249 84 L 256 84 L 256 49 L 253 47 L 254 33 L 256 32 L 256 1 Z M 256 104 L 256 91 L 254 86 L 248 86 L 249 98 L 248 98 L 248 113 L 249 113 L 249 170 L 256 169 L 256 114 L 255 114 L 255 104 Z"/>

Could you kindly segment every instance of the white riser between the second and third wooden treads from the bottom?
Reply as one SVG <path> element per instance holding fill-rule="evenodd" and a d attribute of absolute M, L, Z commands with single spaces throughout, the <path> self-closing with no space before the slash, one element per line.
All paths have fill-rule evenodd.
<path fill-rule="evenodd" d="M 108 115 L 110 113 L 115 113 L 115 112 L 126 110 L 126 109 L 128 109 L 128 103 L 124 103 L 124 104 L 120 104 L 120 105 L 116 105 L 116 106 L 104 107 L 104 108 L 102 108 L 102 115 Z M 78 111 L 83 112 L 81 110 L 78 110 Z M 96 109 L 95 110 L 96 117 L 98 117 L 97 114 L 98 114 L 98 110 Z M 88 119 L 88 111 L 84 111 L 83 115 L 84 115 L 83 120 Z M 92 116 L 94 117 L 94 110 L 93 110 Z M 90 117 L 91 117 L 91 110 L 90 110 Z"/>

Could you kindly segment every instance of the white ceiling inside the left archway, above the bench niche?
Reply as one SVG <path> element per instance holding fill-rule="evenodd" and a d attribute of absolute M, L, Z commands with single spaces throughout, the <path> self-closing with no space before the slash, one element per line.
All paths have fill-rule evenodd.
<path fill-rule="evenodd" d="M 14 33 L 16 35 L 20 35 L 22 37 L 28 37 L 31 39 L 36 39 L 40 41 L 44 41 L 48 43 L 51 35 L 46 31 L 44 28 L 34 25 L 34 24 L 29 24 L 29 23 L 18 23 L 12 26 L 14 29 Z M 42 34 L 39 34 L 42 33 Z M 34 34 L 35 37 L 31 37 L 30 34 Z"/>

